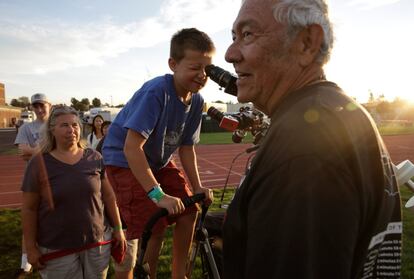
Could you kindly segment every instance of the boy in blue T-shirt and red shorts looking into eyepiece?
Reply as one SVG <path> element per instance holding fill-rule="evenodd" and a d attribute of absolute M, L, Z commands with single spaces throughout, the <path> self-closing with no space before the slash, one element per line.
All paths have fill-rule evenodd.
<path fill-rule="evenodd" d="M 199 141 L 203 98 L 198 93 L 207 82 L 205 66 L 215 47 L 207 34 L 182 29 L 171 39 L 166 74 L 146 82 L 120 111 L 109 128 L 103 146 L 108 178 L 115 189 L 122 219 L 127 226 L 128 252 L 117 278 L 132 278 L 137 239 L 150 216 L 166 208 L 167 218 L 154 227 L 145 253 L 151 278 L 156 278 L 163 234 L 174 227 L 172 278 L 185 278 L 185 265 L 197 216 L 195 206 L 185 209 L 181 198 L 212 192 L 201 185 L 194 145 Z M 172 161 L 178 149 L 191 183 Z"/>

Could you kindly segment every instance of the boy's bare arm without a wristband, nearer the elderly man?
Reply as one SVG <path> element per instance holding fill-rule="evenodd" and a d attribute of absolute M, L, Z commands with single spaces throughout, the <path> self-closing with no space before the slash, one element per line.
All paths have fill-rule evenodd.
<path fill-rule="evenodd" d="M 193 187 L 195 193 L 205 193 L 206 201 L 211 203 L 213 201 L 213 193 L 210 189 L 201 186 L 200 175 L 197 167 L 197 156 L 194 150 L 194 145 L 182 145 L 179 148 L 181 165 L 188 177 L 188 180 Z"/>

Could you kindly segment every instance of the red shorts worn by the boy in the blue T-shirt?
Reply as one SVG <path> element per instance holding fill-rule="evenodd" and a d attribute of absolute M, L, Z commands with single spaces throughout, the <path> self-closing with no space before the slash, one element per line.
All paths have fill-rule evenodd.
<path fill-rule="evenodd" d="M 122 220 L 127 225 L 127 239 L 141 238 L 145 224 L 160 208 L 148 198 L 147 193 L 129 168 L 106 166 L 106 172 L 114 189 Z M 173 162 L 170 161 L 164 168 L 154 173 L 154 176 L 166 194 L 177 198 L 192 195 L 183 173 Z M 175 223 L 177 217 L 197 212 L 197 210 L 196 206 L 191 206 L 179 215 L 161 218 L 152 231 L 153 233 L 163 232 L 168 225 Z"/>

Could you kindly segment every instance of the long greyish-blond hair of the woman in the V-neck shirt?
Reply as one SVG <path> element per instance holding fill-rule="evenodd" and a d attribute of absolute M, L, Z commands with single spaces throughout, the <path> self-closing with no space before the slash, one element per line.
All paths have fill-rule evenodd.
<path fill-rule="evenodd" d="M 49 153 L 56 148 L 56 139 L 52 134 L 54 127 L 56 126 L 56 118 L 62 115 L 72 114 L 76 116 L 80 128 L 80 135 L 82 134 L 82 123 L 79 119 L 78 112 L 67 105 L 55 105 L 50 111 L 50 116 L 42 127 L 42 141 L 40 143 L 40 150 L 42 153 Z M 86 143 L 83 140 L 78 141 L 78 147 L 86 148 Z"/>

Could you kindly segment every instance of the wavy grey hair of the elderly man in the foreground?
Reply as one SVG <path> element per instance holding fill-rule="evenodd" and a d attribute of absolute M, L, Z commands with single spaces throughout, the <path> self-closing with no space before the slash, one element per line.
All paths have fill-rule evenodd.
<path fill-rule="evenodd" d="M 324 39 L 317 61 L 321 64 L 329 61 L 334 35 L 326 0 L 278 0 L 273 6 L 273 17 L 277 22 L 287 25 L 288 39 L 294 39 L 296 34 L 306 26 L 320 25 Z"/>

